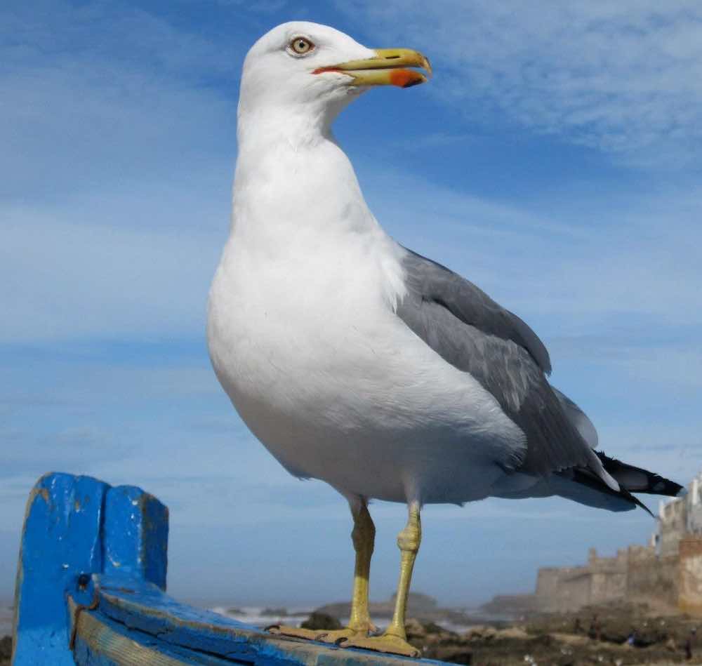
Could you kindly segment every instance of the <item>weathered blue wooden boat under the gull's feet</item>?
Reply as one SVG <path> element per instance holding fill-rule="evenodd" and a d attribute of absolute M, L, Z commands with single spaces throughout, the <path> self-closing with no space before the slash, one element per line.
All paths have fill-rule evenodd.
<path fill-rule="evenodd" d="M 166 594 L 168 509 L 135 486 L 46 474 L 32 489 L 13 666 L 440 664 L 266 634 Z"/>

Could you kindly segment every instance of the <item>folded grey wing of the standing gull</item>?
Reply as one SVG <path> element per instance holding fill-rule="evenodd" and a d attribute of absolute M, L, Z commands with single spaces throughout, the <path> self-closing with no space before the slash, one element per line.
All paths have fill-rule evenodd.
<path fill-rule="evenodd" d="M 550 360 L 536 333 L 436 262 L 407 251 L 402 267 L 408 293 L 397 316 L 444 360 L 480 382 L 526 435 L 527 451 L 508 471 L 545 475 L 583 467 L 616 487 L 548 383 Z"/>

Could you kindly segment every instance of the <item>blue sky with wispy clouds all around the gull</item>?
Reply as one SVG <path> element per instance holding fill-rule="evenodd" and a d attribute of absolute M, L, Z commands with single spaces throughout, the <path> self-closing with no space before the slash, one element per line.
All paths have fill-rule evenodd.
<path fill-rule="evenodd" d="M 526 319 L 602 448 L 686 482 L 702 462 L 702 8 L 695 0 L 9 0 L 0 7 L 0 597 L 49 469 L 171 507 L 169 589 L 345 599 L 347 507 L 246 430 L 204 342 L 228 228 L 239 70 L 293 19 L 407 46 L 430 84 L 336 133 L 380 222 Z M 656 507 L 656 499 L 649 505 Z M 371 596 L 404 508 L 378 503 Z M 643 542 L 644 512 L 427 507 L 416 590 L 529 591 L 536 567 Z"/>

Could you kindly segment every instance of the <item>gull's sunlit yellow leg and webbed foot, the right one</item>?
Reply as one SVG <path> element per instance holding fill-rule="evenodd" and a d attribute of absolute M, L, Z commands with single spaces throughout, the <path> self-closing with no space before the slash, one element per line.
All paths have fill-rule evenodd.
<path fill-rule="evenodd" d="M 395 597 L 395 613 L 392 615 L 392 621 L 382 636 L 369 638 L 355 636 L 343 641 L 341 643 L 343 647 L 366 648 L 410 657 L 419 655 L 418 649 L 407 642 L 404 620 L 407 608 L 407 595 L 409 594 L 409 586 L 412 580 L 412 570 L 421 541 L 422 524 L 419 515 L 419 505 L 417 502 L 412 502 L 409 505 L 407 524 L 404 530 L 397 535 L 397 546 L 401 553 L 401 559 L 397 597 Z"/>

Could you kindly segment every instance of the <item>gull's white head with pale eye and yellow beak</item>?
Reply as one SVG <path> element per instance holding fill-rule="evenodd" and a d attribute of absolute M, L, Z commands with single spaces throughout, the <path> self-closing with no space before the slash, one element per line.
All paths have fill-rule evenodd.
<path fill-rule="evenodd" d="M 413 67 L 431 74 L 427 58 L 409 48 L 368 48 L 326 25 L 283 23 L 246 55 L 239 114 L 276 109 L 293 115 L 305 109 L 331 120 L 373 86 L 424 83 L 427 77 Z"/>

